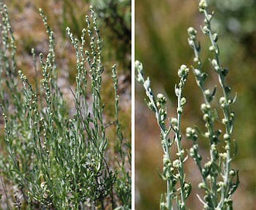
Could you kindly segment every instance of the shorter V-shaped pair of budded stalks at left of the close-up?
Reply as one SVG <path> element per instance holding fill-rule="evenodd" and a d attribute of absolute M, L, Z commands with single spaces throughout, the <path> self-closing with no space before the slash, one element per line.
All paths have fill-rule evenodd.
<path fill-rule="evenodd" d="M 172 117 L 168 125 L 166 125 L 166 97 L 162 93 L 159 93 L 156 98 L 154 97 L 150 87 L 149 78 L 147 78 L 147 80 L 144 78 L 142 63 L 136 61 L 135 69 L 138 71 L 137 80 L 144 86 L 145 93 L 148 97 L 147 105 L 150 110 L 155 112 L 155 118 L 161 130 L 162 149 L 164 152 L 162 179 L 166 181 L 166 199 L 162 196 L 160 209 L 172 210 L 176 200 L 177 208 L 185 210 L 186 198 L 188 198 L 190 194 L 191 186 L 185 181 L 184 163 L 186 158 L 184 158 L 185 151 L 182 145 L 181 116 L 183 113 L 183 106 L 186 103 L 186 99 L 183 97 L 183 88 L 186 83 L 189 69 L 185 65 L 182 65 L 178 71 L 180 81 L 175 89 L 176 97 L 178 98 L 177 118 Z M 175 133 L 173 140 L 169 138 L 171 131 L 174 131 Z M 172 161 L 172 153 L 170 149 L 174 142 L 176 142 L 177 153 L 176 159 Z M 178 183 L 179 186 L 177 185 Z"/>

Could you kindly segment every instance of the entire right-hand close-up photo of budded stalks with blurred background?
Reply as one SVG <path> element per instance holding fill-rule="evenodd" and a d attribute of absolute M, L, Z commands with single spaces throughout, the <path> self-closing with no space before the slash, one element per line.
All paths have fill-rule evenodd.
<path fill-rule="evenodd" d="M 135 2 L 136 209 L 254 209 L 255 11 Z"/>

